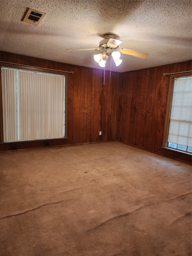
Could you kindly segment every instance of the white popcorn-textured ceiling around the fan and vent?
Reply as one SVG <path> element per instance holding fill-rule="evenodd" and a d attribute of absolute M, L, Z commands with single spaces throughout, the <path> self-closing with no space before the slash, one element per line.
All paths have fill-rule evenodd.
<path fill-rule="evenodd" d="M 26 8 L 46 13 L 34 26 L 22 22 Z M 122 48 L 149 53 L 146 59 L 121 54 L 118 72 L 191 59 L 191 1 L 0 1 L 0 50 L 92 68 L 99 47 L 112 33 Z M 103 68 L 102 68 L 103 69 Z"/>

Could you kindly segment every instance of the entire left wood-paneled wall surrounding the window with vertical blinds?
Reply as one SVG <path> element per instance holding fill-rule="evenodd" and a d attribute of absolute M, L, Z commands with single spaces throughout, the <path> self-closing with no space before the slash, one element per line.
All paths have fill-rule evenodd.
<path fill-rule="evenodd" d="M 77 67 L 0 52 L 0 61 L 61 71 L 68 74 L 68 139 L 0 144 L 0 151 L 115 140 L 119 73 Z M 5 64 L 6 65 L 6 64 Z M 102 135 L 99 135 L 102 131 Z"/>

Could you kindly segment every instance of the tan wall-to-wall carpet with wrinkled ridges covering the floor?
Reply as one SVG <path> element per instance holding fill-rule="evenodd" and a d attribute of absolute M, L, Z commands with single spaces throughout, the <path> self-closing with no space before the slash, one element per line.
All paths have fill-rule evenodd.
<path fill-rule="evenodd" d="M 191 166 L 118 142 L 0 154 L 1 256 L 189 256 Z"/>

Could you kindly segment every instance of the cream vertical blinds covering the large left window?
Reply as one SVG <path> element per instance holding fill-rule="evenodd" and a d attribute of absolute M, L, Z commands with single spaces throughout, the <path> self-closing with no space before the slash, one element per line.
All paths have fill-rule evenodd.
<path fill-rule="evenodd" d="M 4 142 L 64 137 L 65 76 L 1 68 Z"/>

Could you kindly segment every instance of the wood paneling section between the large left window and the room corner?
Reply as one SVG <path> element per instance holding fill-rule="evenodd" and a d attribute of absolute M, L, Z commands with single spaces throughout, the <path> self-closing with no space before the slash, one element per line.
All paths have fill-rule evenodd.
<path fill-rule="evenodd" d="M 115 140 L 119 74 L 68 66 L 67 144 Z M 65 69 L 66 71 L 66 69 Z M 102 131 L 102 135 L 99 135 Z"/>

